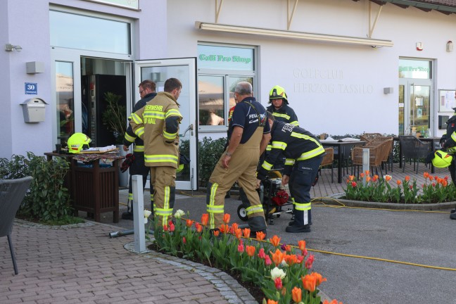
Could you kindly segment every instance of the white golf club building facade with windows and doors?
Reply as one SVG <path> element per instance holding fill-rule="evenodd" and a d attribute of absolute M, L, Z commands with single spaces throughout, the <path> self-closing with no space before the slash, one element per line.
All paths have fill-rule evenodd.
<path fill-rule="evenodd" d="M 315 134 L 417 127 L 441 136 L 439 117 L 456 106 L 456 4 L 426 2 L 1 1 L 0 157 L 42 155 L 72 132 L 113 144 L 101 93 L 117 92 L 129 115 L 141 80 L 160 91 L 169 77 L 184 86 L 192 161 L 182 189 L 196 189 L 198 139 L 226 136 L 239 80 L 265 106 L 270 89 L 284 87 Z M 21 103 L 33 99 L 46 103 L 44 118 L 26 122 Z"/>

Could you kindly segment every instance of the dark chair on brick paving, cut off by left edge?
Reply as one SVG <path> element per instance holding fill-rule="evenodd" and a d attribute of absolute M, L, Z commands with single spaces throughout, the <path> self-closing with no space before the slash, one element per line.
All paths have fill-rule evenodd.
<path fill-rule="evenodd" d="M 11 230 L 16 212 L 32 182 L 32 177 L 20 179 L 0 179 L 0 237 L 7 236 L 13 260 L 14 273 L 18 274 L 18 265 L 15 262 Z"/>

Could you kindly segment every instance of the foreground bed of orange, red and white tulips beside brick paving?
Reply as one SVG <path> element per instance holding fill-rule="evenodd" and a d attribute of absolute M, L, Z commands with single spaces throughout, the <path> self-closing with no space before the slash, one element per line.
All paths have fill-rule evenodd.
<path fill-rule="evenodd" d="M 317 287 L 327 279 L 310 272 L 314 255 L 308 255 L 304 240 L 291 246 L 281 244 L 277 235 L 265 240 L 262 232 L 251 239 L 250 229 L 241 229 L 236 223 L 229 226 L 229 214 L 218 229 L 207 227 L 208 214 L 201 217 L 201 223 L 183 216 L 184 212 L 177 210 L 175 223 L 156 226 L 153 246 L 170 255 L 206 261 L 220 270 L 234 270 L 242 281 L 260 286 L 265 304 L 321 303 Z M 146 238 L 151 241 L 150 236 Z M 329 304 L 327 300 L 323 303 Z M 331 304 L 338 302 L 332 300 Z"/>

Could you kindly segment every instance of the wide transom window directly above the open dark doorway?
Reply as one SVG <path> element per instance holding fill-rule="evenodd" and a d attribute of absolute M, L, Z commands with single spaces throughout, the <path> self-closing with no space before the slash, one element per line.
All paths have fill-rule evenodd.
<path fill-rule="evenodd" d="M 49 12 L 51 46 L 129 54 L 130 24 L 61 11 Z"/>

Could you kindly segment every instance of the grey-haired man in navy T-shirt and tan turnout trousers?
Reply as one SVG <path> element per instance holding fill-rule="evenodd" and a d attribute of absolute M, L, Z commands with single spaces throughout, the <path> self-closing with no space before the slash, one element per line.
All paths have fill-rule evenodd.
<path fill-rule="evenodd" d="M 229 130 L 229 145 L 210 175 L 206 204 L 210 229 L 220 227 L 224 214 L 224 197 L 236 180 L 250 202 L 247 215 L 251 236 L 256 232 L 266 233 L 265 212 L 255 190 L 256 169 L 260 154 L 270 141 L 270 125 L 267 124 L 265 108 L 252 96 L 252 85 L 239 82 L 234 89 L 236 106 Z"/>

